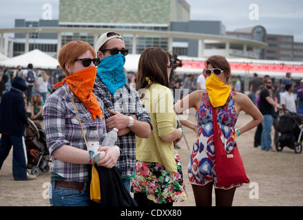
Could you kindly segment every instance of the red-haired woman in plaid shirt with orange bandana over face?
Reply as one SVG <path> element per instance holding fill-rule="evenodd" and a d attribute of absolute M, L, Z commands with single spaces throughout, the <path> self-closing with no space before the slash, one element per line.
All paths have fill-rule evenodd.
<path fill-rule="evenodd" d="M 83 41 L 71 41 L 59 52 L 59 63 L 67 74 L 45 102 L 43 118 L 48 150 L 52 157 L 50 205 L 89 206 L 89 166 L 112 168 L 120 155 L 116 146 L 87 151 L 87 132 L 94 128 L 99 143 L 106 128 L 103 102 L 92 89 L 96 78 L 94 48 Z M 87 140 L 88 141 L 88 140 Z"/>

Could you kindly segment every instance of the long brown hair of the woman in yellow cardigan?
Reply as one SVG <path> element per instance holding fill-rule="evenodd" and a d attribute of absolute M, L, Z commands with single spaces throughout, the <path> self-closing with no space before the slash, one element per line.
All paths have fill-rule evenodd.
<path fill-rule="evenodd" d="M 148 87 L 146 77 L 152 83 L 169 87 L 167 61 L 170 61 L 170 59 L 171 54 L 161 47 L 147 47 L 139 59 L 136 90 Z"/>

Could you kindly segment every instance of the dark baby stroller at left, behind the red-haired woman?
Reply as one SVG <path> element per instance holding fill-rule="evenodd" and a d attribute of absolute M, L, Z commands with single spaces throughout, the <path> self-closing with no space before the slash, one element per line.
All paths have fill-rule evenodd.
<path fill-rule="evenodd" d="M 46 146 L 45 131 L 30 119 L 25 126 L 25 146 L 28 154 L 27 168 L 32 170 L 32 175 L 39 176 L 41 171 L 48 172 L 50 155 Z"/>

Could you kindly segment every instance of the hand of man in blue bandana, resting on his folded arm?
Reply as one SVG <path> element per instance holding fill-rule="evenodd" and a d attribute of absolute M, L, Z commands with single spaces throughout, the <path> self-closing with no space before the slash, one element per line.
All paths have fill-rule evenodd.
<path fill-rule="evenodd" d="M 116 128 L 120 131 L 121 129 L 127 128 L 129 124 L 129 116 L 123 115 L 111 109 L 107 110 L 109 111 L 109 113 L 113 114 L 112 117 L 107 118 L 107 120 L 105 120 L 105 124 L 109 130 Z"/>

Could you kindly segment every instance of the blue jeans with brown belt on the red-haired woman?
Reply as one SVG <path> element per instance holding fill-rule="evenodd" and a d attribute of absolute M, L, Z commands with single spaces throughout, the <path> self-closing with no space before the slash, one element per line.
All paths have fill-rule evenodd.
<path fill-rule="evenodd" d="M 50 184 L 48 188 L 50 206 L 90 206 L 90 193 L 85 192 L 87 187 L 85 183 L 83 190 L 74 190 Z"/>

